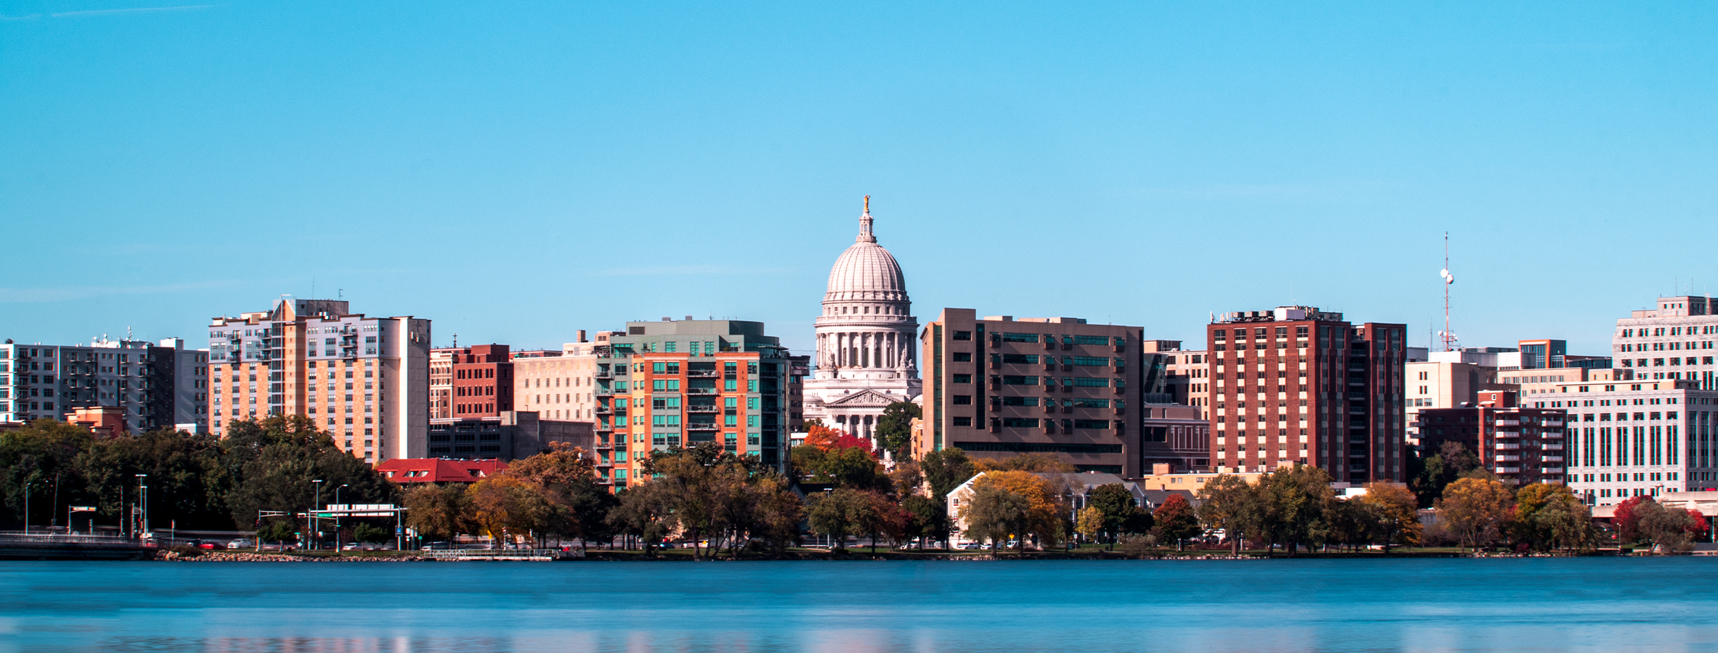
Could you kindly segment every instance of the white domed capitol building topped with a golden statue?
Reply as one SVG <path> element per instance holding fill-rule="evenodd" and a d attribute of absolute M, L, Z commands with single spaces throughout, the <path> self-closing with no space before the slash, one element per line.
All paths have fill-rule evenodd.
<path fill-rule="evenodd" d="M 900 263 L 871 232 L 871 198 L 859 217 L 859 237 L 830 268 L 816 330 L 806 419 L 874 440 L 888 404 L 919 400 L 919 321 L 912 318 Z"/>

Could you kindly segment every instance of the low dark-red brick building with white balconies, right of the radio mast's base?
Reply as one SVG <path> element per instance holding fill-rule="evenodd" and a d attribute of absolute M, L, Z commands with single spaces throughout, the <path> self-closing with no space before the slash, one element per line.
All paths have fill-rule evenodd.
<path fill-rule="evenodd" d="M 1524 407 L 1512 390 L 1486 390 L 1471 406 L 1421 411 L 1419 442 L 1426 454 L 1459 442 L 1515 486 L 1563 483 L 1567 416 L 1562 407 Z"/>

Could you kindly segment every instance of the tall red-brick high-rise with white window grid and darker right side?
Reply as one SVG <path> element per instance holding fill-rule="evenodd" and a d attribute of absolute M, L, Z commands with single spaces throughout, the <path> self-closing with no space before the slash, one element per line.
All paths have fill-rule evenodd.
<path fill-rule="evenodd" d="M 1400 483 L 1405 332 L 1309 306 L 1228 313 L 1206 326 L 1211 464 L 1311 464 L 1335 481 Z"/>

